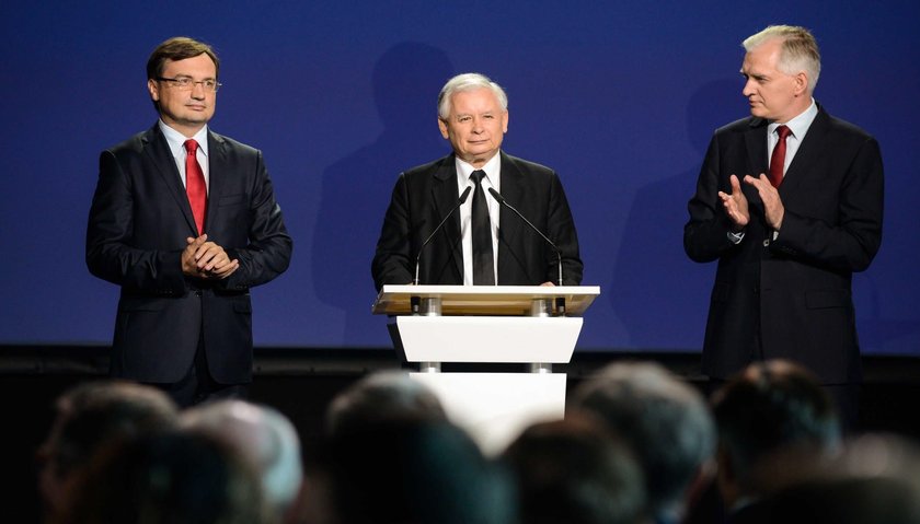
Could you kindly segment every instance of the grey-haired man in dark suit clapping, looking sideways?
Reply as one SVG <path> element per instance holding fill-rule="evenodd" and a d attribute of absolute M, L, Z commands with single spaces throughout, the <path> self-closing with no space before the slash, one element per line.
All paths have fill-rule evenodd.
<path fill-rule="evenodd" d="M 852 421 L 851 280 L 882 241 L 878 143 L 814 101 L 820 56 L 807 30 L 771 26 L 744 46 L 751 116 L 715 131 L 683 231 L 690 258 L 718 260 L 703 372 L 795 360 L 842 386 L 831 393 Z"/>

